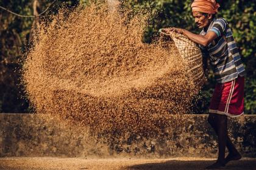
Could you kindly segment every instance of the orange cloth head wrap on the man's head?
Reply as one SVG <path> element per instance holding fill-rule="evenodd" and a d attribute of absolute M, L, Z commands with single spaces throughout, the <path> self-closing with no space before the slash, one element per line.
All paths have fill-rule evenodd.
<path fill-rule="evenodd" d="M 203 12 L 209 14 L 218 13 L 219 4 L 215 0 L 194 0 L 191 4 L 192 12 Z"/>

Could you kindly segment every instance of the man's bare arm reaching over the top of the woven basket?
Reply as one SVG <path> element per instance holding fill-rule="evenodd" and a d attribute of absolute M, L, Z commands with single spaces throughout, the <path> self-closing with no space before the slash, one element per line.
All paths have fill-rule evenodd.
<path fill-rule="evenodd" d="M 166 33 L 171 33 L 173 31 L 177 33 L 182 33 L 183 35 L 187 36 L 191 41 L 194 41 L 196 42 L 196 44 L 200 44 L 204 47 L 208 46 L 215 38 L 218 37 L 216 33 L 212 31 L 207 32 L 206 35 L 197 35 L 185 29 L 177 29 L 177 28 L 165 29 Z"/>

